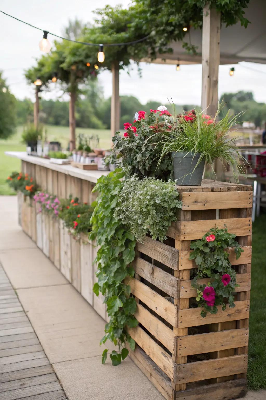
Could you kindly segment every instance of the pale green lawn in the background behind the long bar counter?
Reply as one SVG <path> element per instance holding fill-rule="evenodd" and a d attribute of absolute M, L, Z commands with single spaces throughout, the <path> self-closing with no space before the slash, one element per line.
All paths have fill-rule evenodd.
<path fill-rule="evenodd" d="M 12 171 L 20 171 L 20 160 L 4 154 L 5 151 L 26 151 L 26 145 L 21 143 L 23 127 L 18 126 L 16 134 L 8 140 L 0 140 L 0 195 L 15 194 L 6 184 L 6 178 Z M 69 142 L 69 128 L 67 126 L 44 125 L 43 133 L 47 130 L 49 141 L 57 140 L 62 148 L 67 147 Z M 100 138 L 100 147 L 108 149 L 111 147 L 111 133 L 107 129 L 77 128 L 76 134 L 84 133 L 88 135 L 97 134 Z"/>

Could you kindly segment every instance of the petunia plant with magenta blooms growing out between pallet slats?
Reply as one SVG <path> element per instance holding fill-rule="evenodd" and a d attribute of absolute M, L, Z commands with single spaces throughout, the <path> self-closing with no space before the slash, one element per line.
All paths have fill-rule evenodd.
<path fill-rule="evenodd" d="M 233 247 L 238 259 L 243 252 L 242 248 L 235 240 L 236 235 L 231 234 L 225 229 L 212 228 L 201 240 L 191 243 L 190 260 L 195 260 L 197 270 L 191 282 L 191 286 L 197 290 L 197 303 L 203 307 L 201 316 L 204 318 L 207 312 L 216 314 L 217 306 L 222 305 L 225 311 L 228 300 L 229 307 L 233 308 L 234 288 L 236 284 L 236 272 L 233 270 L 229 261 L 227 248 Z M 200 284 L 198 279 L 209 278 L 206 284 Z"/>

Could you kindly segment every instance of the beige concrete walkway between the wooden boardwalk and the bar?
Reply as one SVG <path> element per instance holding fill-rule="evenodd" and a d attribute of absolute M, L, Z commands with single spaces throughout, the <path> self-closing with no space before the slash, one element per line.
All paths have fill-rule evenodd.
<path fill-rule="evenodd" d="M 105 322 L 17 223 L 15 196 L 0 196 L 0 262 L 69 400 L 164 400 L 127 358 L 101 364 Z M 106 343 L 109 350 L 113 347 Z M 249 392 L 265 400 L 266 392 Z"/>

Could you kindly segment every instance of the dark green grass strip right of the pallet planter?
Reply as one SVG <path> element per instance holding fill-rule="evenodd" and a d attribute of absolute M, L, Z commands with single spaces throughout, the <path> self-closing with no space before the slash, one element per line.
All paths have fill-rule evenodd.
<path fill-rule="evenodd" d="M 266 388 L 266 214 L 252 227 L 248 387 Z"/>

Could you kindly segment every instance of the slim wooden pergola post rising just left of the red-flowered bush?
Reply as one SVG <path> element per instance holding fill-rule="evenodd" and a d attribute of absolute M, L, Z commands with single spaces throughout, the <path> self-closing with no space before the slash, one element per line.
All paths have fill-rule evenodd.
<path fill-rule="evenodd" d="M 119 98 L 119 62 L 112 65 L 112 99 L 111 99 L 111 134 L 120 129 L 120 98 Z"/>

